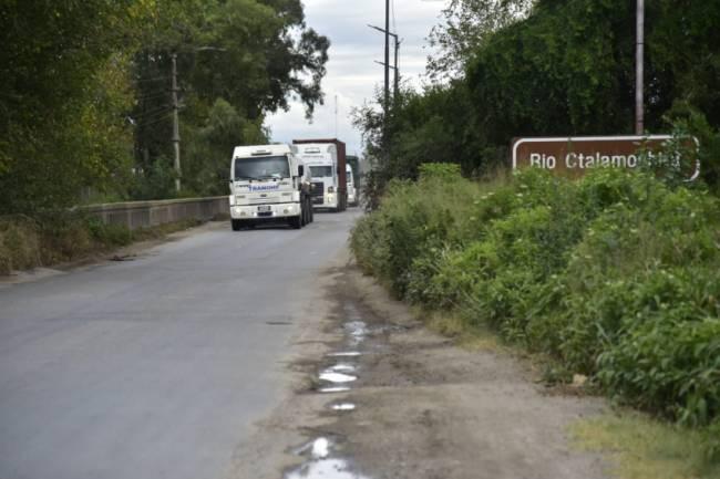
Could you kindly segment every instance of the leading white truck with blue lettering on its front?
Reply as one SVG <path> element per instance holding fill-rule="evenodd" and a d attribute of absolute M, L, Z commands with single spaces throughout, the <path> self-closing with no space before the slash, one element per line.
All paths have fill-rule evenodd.
<path fill-rule="evenodd" d="M 261 222 L 287 222 L 296 229 L 311 222 L 310 177 L 297 147 L 236 147 L 229 201 L 234 231 Z"/>

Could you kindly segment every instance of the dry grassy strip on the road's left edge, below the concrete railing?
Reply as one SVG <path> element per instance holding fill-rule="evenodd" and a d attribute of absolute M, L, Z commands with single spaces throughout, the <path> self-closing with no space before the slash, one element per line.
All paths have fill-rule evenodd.
<path fill-rule="evenodd" d="M 75 261 L 198 223 L 191 219 L 133 231 L 78 212 L 0 217 L 0 274 Z"/>

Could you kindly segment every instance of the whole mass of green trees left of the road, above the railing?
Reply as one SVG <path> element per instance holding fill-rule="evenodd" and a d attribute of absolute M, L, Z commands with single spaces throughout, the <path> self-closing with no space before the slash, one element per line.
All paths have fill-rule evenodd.
<path fill-rule="evenodd" d="M 33 216 L 176 195 L 173 54 L 181 195 L 225 192 L 220 158 L 266 143 L 268 112 L 322 102 L 329 48 L 299 0 L 4 1 L 0 43 L 0 215 Z"/>

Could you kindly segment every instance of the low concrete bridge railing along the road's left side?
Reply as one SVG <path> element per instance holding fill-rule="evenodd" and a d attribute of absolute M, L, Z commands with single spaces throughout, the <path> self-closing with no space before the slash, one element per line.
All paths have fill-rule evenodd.
<path fill-rule="evenodd" d="M 210 198 L 165 199 L 90 205 L 81 209 L 106 225 L 124 225 L 130 229 L 147 228 L 185 219 L 207 221 L 229 214 L 227 196 Z"/>

